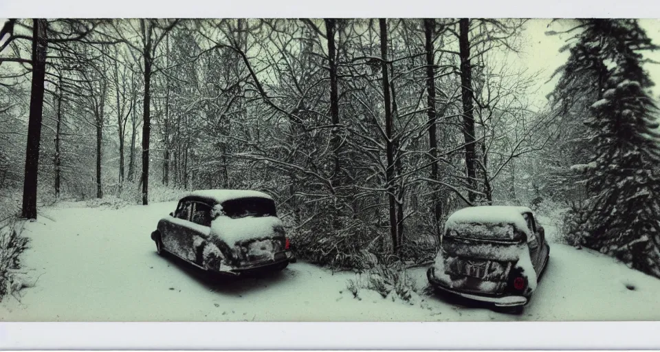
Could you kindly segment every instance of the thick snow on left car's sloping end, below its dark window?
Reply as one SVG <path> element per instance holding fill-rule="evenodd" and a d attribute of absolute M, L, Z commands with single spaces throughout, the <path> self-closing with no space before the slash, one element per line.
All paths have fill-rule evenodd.
<path fill-rule="evenodd" d="M 218 217 L 211 223 L 211 235 L 231 247 L 243 241 L 284 236 L 284 227 L 278 217 Z"/>

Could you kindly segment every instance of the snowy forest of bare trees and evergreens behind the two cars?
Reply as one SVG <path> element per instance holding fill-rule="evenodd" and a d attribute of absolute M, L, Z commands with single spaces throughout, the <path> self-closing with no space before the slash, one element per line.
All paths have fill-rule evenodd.
<path fill-rule="evenodd" d="M 296 254 L 339 269 L 428 262 L 451 212 L 510 204 L 660 277 L 657 45 L 634 19 L 560 21 L 538 107 L 509 59 L 529 21 L 8 19 L 0 281 L 43 207 L 209 188 L 272 195 Z"/>

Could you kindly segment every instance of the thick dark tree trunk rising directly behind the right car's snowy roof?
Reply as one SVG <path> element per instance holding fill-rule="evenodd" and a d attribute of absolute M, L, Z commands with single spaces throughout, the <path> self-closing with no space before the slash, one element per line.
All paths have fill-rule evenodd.
<path fill-rule="evenodd" d="M 463 99 L 463 137 L 465 138 L 465 169 L 467 170 L 467 199 L 476 199 L 476 169 L 474 155 L 474 93 L 470 65 L 470 19 L 459 21 L 459 50 L 461 56 L 461 98 Z"/>

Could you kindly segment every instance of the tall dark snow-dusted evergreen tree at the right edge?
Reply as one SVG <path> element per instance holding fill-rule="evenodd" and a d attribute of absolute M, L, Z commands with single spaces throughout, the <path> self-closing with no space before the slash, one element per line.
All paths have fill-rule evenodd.
<path fill-rule="evenodd" d="M 635 20 L 586 20 L 597 98 L 585 124 L 593 156 L 588 201 L 575 232 L 582 244 L 660 277 L 660 133 L 641 50 L 654 49 Z"/>

